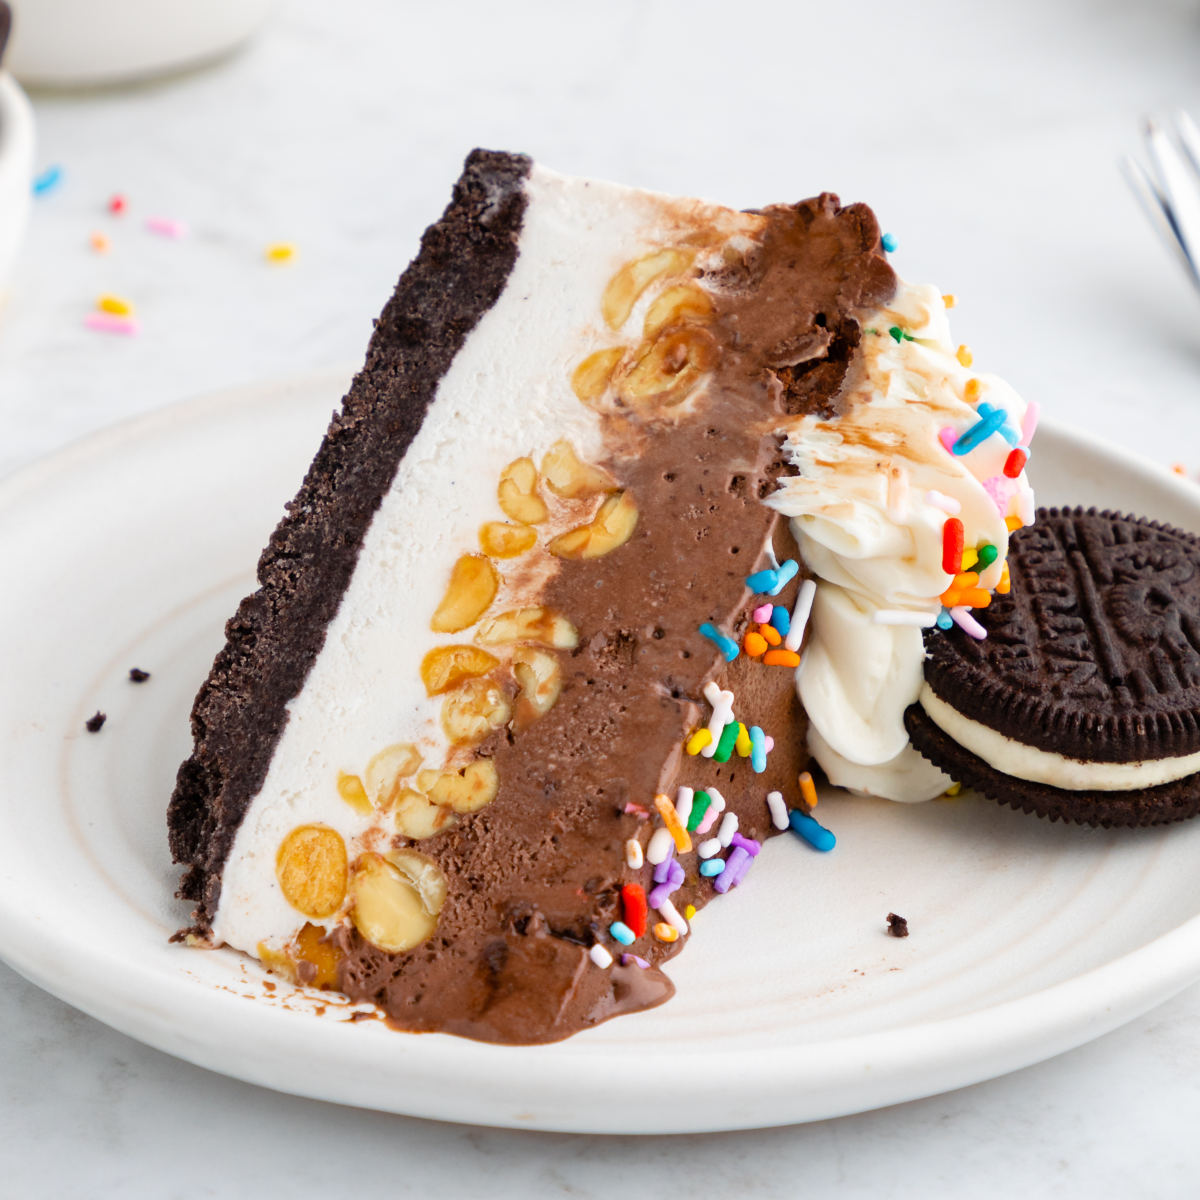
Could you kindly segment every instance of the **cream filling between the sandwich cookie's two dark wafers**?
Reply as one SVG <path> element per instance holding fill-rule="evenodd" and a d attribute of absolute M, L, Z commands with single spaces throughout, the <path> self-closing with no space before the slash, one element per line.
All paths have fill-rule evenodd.
<path fill-rule="evenodd" d="M 979 721 L 964 716 L 929 684 L 920 689 L 920 707 L 929 719 L 964 750 L 983 758 L 989 767 L 1031 784 L 1049 784 L 1068 792 L 1129 792 L 1141 787 L 1174 784 L 1200 770 L 1200 751 L 1174 758 L 1146 758 L 1142 762 L 1084 762 L 1066 755 L 1014 742 Z"/>

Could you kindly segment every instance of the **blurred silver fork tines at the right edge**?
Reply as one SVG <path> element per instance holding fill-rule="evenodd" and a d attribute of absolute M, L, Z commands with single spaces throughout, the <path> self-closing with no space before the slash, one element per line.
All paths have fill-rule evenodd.
<path fill-rule="evenodd" d="M 1200 131 L 1180 112 L 1174 128 L 1146 121 L 1145 138 L 1153 174 L 1126 155 L 1126 179 L 1159 238 L 1200 288 Z"/>

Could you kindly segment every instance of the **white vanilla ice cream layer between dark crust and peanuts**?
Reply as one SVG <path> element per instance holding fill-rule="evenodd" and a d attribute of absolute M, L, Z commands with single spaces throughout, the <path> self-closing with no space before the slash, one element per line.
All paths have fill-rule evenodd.
<path fill-rule="evenodd" d="M 740 217 L 697 202 L 534 167 L 520 252 L 499 300 L 440 380 L 425 421 L 362 542 L 325 643 L 299 695 L 228 857 L 212 923 L 217 942 L 254 952 L 282 944 L 301 923 L 276 880 L 276 852 L 296 826 L 336 829 L 353 859 L 371 845 L 371 816 L 337 792 L 338 772 L 361 774 L 383 748 L 416 743 L 428 767 L 448 743 L 420 665 L 434 646 L 464 637 L 430 631 L 451 568 L 478 551 L 484 521 L 503 520 L 497 481 L 512 460 L 560 438 L 586 460 L 602 456 L 600 418 L 570 386 L 582 358 L 612 343 L 598 298 L 613 274 L 678 238 L 680 222 Z M 745 222 L 754 228 L 756 218 Z M 566 269 L 564 269 L 566 268 Z M 635 310 L 632 319 L 640 319 Z M 556 568 L 550 564 L 546 571 Z M 535 602 L 545 582 L 503 584 L 497 611 Z M 330 918 L 325 925 L 332 925 Z"/>

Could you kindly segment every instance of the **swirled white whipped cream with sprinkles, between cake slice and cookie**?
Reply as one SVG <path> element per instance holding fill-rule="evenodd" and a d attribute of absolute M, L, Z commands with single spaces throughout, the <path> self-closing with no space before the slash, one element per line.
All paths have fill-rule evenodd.
<path fill-rule="evenodd" d="M 997 550 L 979 587 L 1000 582 L 1006 517 L 1032 521 L 1028 481 L 1024 472 L 1012 480 L 1002 474 L 1012 446 L 998 433 L 964 455 L 949 452 L 942 437 L 970 428 L 979 419 L 976 403 L 1002 408 L 1019 431 L 1026 406 L 1003 380 L 962 365 L 936 288 L 901 283 L 888 308 L 865 314 L 863 326 L 838 414 L 787 426 L 797 474 L 767 503 L 791 518 L 817 580 L 797 670 L 814 757 L 839 786 L 926 800 L 949 780 L 912 750 L 904 727 L 922 688 L 922 631 L 881 624 L 876 613 L 899 610 L 931 622 L 940 612 L 938 598 L 953 582 L 942 570 L 947 503 L 962 521 L 966 546 Z M 976 403 L 967 400 L 971 379 L 978 380 Z"/>

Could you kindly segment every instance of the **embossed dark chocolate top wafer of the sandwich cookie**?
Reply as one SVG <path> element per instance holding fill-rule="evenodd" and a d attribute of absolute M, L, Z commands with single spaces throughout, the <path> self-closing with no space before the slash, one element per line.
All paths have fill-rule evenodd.
<path fill-rule="evenodd" d="M 1008 563 L 1010 593 L 980 614 L 986 638 L 926 636 L 937 696 L 1086 762 L 1200 751 L 1200 539 L 1120 512 L 1042 509 Z"/>

